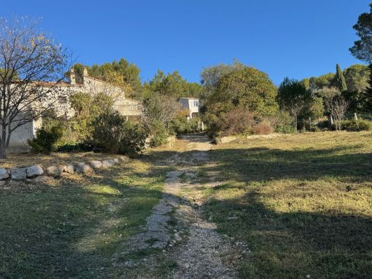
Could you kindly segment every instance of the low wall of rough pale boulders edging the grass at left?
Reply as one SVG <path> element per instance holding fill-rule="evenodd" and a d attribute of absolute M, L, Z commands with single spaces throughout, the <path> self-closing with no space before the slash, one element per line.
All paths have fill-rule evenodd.
<path fill-rule="evenodd" d="M 13 167 L 11 169 L 0 168 L 0 182 L 8 179 L 24 180 L 24 179 L 37 179 L 40 177 L 53 176 L 57 178 L 61 176 L 63 172 L 69 174 L 89 174 L 94 172 L 94 169 L 107 169 L 119 164 L 120 162 L 126 162 L 128 158 L 120 156 L 119 158 L 107 159 L 107 160 L 91 160 L 88 163 L 80 162 L 75 165 L 52 165 L 43 169 L 40 165 L 31 165 L 29 167 Z M 39 177 L 39 178 L 40 178 Z"/>

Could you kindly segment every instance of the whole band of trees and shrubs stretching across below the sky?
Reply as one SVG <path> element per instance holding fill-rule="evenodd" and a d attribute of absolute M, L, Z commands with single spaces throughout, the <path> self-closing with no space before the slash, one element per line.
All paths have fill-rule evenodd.
<path fill-rule="evenodd" d="M 186 114 L 177 105 L 180 97 L 200 98 L 202 120 L 214 135 L 290 133 L 297 128 L 311 128 L 307 119 L 322 116 L 333 116 L 338 121 L 336 128 L 341 128 L 346 110 L 372 112 L 372 3 L 369 13 L 362 13 L 353 28 L 359 40 L 350 47 L 350 52 L 368 66 L 353 65 L 341 70 L 337 65 L 336 73 L 304 80 L 287 77 L 278 88 L 267 73 L 239 61 L 203 68 L 200 83 L 188 82 L 177 71 L 165 74 L 161 70 L 151 80 L 142 82 L 140 69 L 126 59 L 88 66 L 88 72 L 92 77 L 121 86 L 126 97 L 143 103 L 142 128 L 146 134 L 160 133 L 160 140 L 153 137 L 158 143 L 170 131 L 196 130 L 197 123 L 186 123 Z M 73 65 L 77 82 L 82 81 L 83 67 L 81 63 Z M 58 100 L 55 94 L 61 88 L 59 84 L 66 81 L 70 68 L 68 51 L 39 29 L 38 22 L 28 17 L 0 21 L 0 158 L 6 157 L 15 129 L 51 115 L 50 109 Z M 120 142 L 131 142 L 128 135 L 133 133 L 142 135 L 137 126 L 124 127 L 121 124 L 124 119 L 114 112 L 111 116 L 102 116 L 101 112 L 97 116 L 96 111 L 107 105 L 105 98 L 81 97 L 76 98 L 74 105 L 78 108 L 77 117 L 86 114 L 77 123 L 89 126 L 87 137 L 94 135 L 91 130 L 92 123 L 98 124 L 96 121 L 119 125 L 118 135 L 126 135 Z M 84 104 L 89 107 L 82 107 Z M 359 124 L 348 126 L 357 125 L 359 129 Z"/>

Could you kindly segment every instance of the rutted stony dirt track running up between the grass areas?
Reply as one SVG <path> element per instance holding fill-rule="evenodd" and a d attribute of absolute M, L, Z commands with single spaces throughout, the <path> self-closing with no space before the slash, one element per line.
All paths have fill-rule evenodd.
<path fill-rule="evenodd" d="M 218 234 L 216 225 L 201 217 L 202 204 L 193 197 L 200 187 L 198 168 L 209 163 L 210 140 L 185 135 L 180 141 L 187 152 L 169 158 L 170 164 L 179 167 L 168 172 L 163 199 L 147 218 L 146 229 L 137 235 L 133 248 L 161 248 L 164 257 L 177 263 L 168 278 L 237 278 L 232 263 L 244 248 Z M 185 189 L 190 195 L 184 195 Z M 169 225 L 171 218 L 177 225 Z"/>

